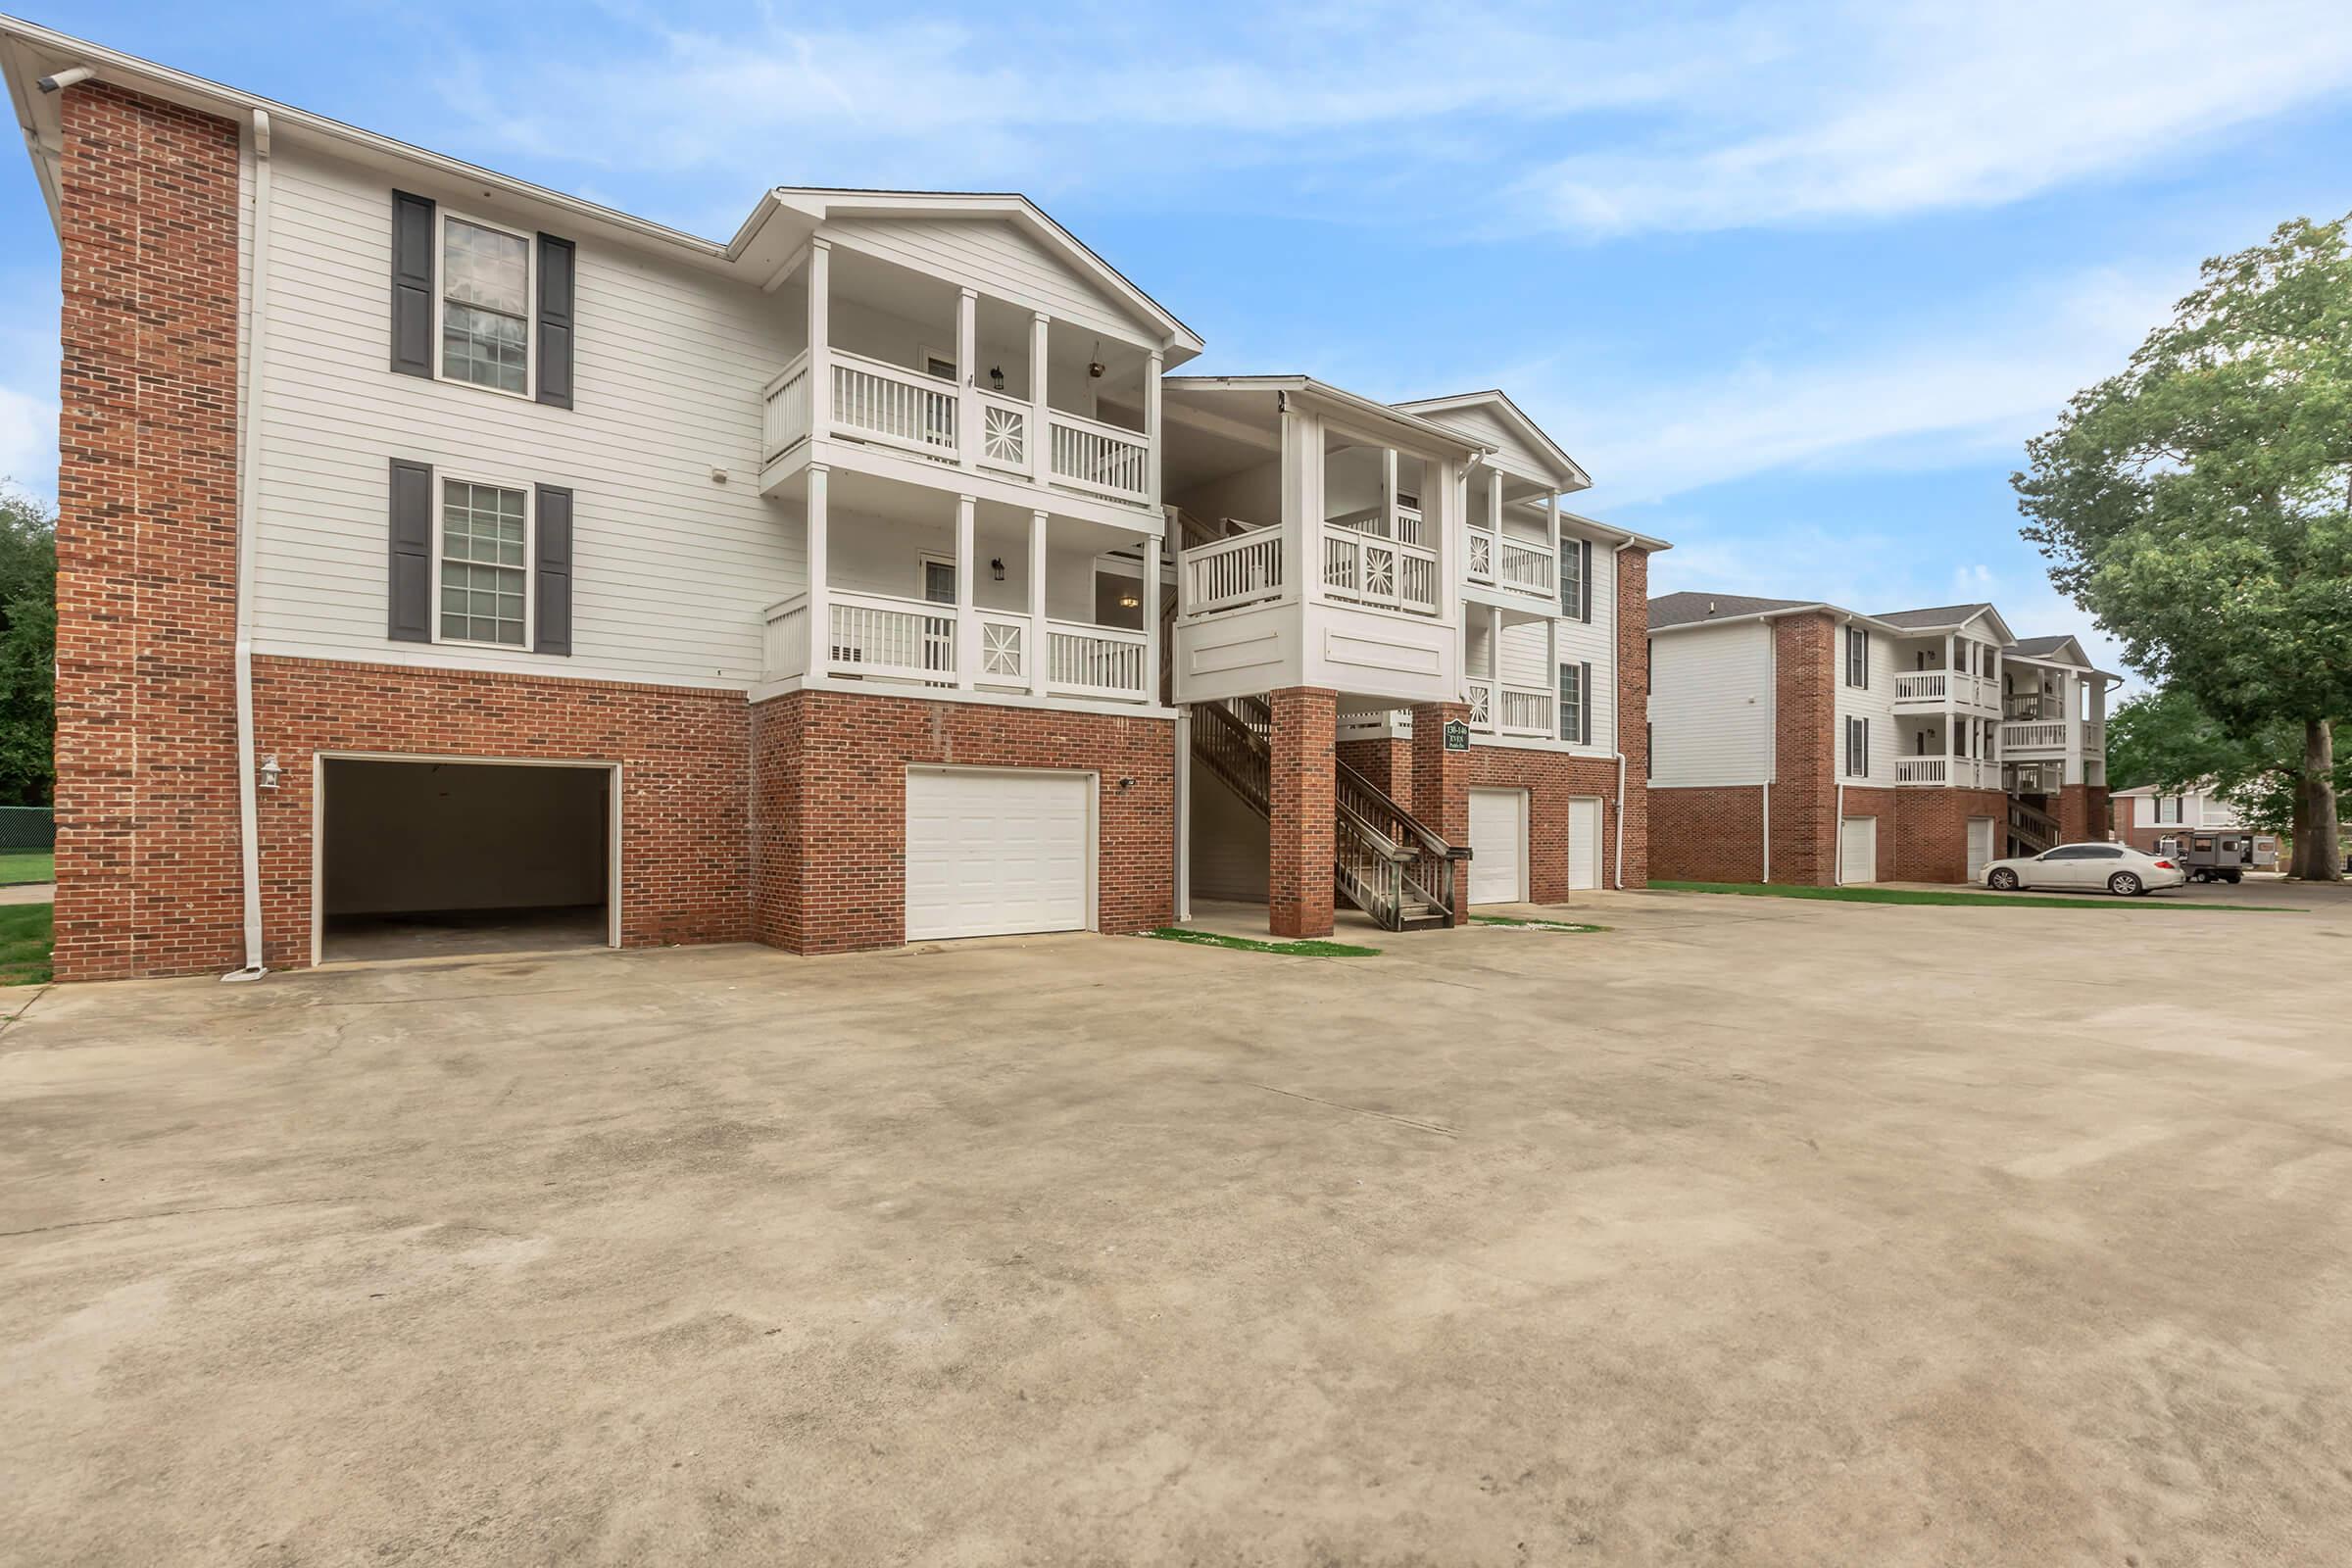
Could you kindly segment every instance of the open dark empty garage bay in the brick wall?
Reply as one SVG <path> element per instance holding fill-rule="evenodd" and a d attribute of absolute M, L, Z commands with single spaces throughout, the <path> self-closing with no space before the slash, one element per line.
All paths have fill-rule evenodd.
<path fill-rule="evenodd" d="M 320 957 L 612 943 L 612 769 L 325 762 Z"/>

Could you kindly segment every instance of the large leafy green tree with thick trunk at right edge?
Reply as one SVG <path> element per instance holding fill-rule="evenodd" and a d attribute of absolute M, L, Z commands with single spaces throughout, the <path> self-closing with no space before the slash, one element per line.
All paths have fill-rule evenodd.
<path fill-rule="evenodd" d="M 2051 581 L 2152 682 L 2253 745 L 2293 724 L 2296 875 L 2340 877 L 2333 722 L 2352 717 L 2352 252 L 2281 223 L 2216 256 L 2131 364 L 2011 475 Z"/>

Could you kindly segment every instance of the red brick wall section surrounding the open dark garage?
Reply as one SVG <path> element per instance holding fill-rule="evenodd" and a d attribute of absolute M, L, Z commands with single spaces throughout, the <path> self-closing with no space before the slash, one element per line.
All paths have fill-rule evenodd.
<path fill-rule="evenodd" d="M 261 795 L 261 929 L 273 969 L 310 961 L 318 752 L 616 762 L 621 945 L 750 936 L 741 691 L 254 658 L 254 741 L 282 766 L 280 785 Z"/>

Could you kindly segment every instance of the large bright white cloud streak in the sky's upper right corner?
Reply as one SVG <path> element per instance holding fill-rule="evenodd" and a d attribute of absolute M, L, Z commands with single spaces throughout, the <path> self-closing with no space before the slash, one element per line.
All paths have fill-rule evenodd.
<path fill-rule="evenodd" d="M 2340 0 L 1867 5 L 1724 103 L 1531 174 L 1573 233 L 1990 207 L 2157 162 L 2352 82 Z"/>

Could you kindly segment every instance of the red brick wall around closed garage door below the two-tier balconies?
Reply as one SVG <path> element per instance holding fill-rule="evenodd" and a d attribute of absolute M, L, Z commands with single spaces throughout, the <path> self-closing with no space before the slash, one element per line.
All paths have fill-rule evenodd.
<path fill-rule="evenodd" d="M 1096 773 L 1098 929 L 1174 919 L 1171 719 L 795 691 L 753 708 L 750 752 L 750 929 L 776 947 L 906 940 L 906 771 L 920 764 Z M 1329 799 L 1322 820 L 1329 837 Z M 1329 846 L 1322 884 L 1329 900 Z"/>

